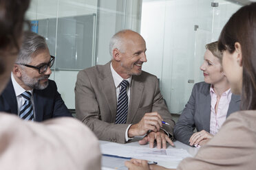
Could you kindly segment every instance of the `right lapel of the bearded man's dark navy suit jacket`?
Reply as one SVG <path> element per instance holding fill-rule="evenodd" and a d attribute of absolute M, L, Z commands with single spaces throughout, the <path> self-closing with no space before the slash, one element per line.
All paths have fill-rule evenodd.
<path fill-rule="evenodd" d="M 34 97 L 34 111 L 35 111 L 35 121 L 43 121 L 43 106 L 45 104 L 42 104 L 44 102 L 44 99 L 40 99 L 39 91 L 34 89 L 33 91 L 33 97 Z"/>

